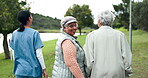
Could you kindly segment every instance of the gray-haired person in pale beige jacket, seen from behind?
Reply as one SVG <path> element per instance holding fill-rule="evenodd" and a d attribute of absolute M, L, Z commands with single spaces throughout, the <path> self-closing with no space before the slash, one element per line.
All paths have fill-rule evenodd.
<path fill-rule="evenodd" d="M 111 28 L 110 11 L 98 15 L 99 29 L 89 33 L 84 45 L 90 78 L 127 78 L 131 76 L 132 53 L 124 33 Z"/>

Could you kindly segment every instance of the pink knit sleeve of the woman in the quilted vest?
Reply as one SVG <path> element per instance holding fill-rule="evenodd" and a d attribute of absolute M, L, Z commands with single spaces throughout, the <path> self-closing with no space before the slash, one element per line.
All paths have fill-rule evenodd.
<path fill-rule="evenodd" d="M 75 78 L 84 78 L 82 71 L 76 60 L 76 47 L 70 40 L 65 40 L 62 43 L 64 61 L 69 67 Z"/>

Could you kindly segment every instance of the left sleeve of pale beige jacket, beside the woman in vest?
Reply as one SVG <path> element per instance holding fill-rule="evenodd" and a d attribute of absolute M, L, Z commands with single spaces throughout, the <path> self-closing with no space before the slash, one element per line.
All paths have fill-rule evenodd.
<path fill-rule="evenodd" d="M 85 52 L 85 65 L 86 65 L 86 72 L 87 75 L 91 75 L 91 70 L 94 63 L 94 44 L 93 44 L 93 36 L 88 34 L 86 36 L 85 44 L 83 46 Z"/>

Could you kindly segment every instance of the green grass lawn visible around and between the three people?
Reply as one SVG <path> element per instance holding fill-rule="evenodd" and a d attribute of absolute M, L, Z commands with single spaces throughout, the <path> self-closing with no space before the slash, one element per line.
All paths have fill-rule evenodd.
<path fill-rule="evenodd" d="M 127 39 L 128 30 L 117 29 L 125 33 Z M 87 30 L 89 32 L 89 30 Z M 78 41 L 81 45 L 85 43 L 86 35 L 78 36 Z M 133 75 L 130 78 L 148 78 L 148 32 L 141 30 L 133 31 L 133 58 L 132 58 L 132 68 Z M 43 55 L 45 59 L 45 64 L 49 77 L 52 74 L 52 67 L 55 58 L 55 44 L 57 40 L 46 41 L 43 47 Z M 13 71 L 13 61 L 5 60 L 4 53 L 0 54 L 0 77 L 2 78 L 14 78 Z"/>

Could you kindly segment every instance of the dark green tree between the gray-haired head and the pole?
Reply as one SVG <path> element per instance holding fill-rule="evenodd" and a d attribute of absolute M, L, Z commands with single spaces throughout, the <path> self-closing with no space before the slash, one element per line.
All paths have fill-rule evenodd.
<path fill-rule="evenodd" d="M 124 26 L 126 29 L 128 29 L 129 26 L 129 3 L 130 0 L 122 0 L 123 3 L 120 3 L 118 5 L 113 5 L 114 7 L 114 14 L 116 15 L 116 19 L 118 22 L 120 22 L 120 26 Z"/>

